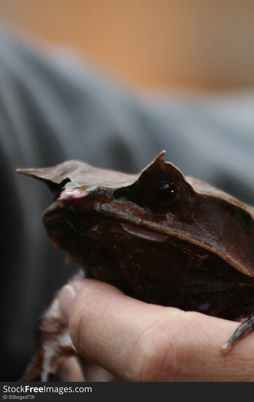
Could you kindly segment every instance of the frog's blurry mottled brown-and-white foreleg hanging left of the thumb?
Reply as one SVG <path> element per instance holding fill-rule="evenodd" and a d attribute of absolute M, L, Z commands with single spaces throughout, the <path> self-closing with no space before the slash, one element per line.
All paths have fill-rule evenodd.
<path fill-rule="evenodd" d="M 59 364 L 77 352 L 68 328 L 61 322 L 58 298 L 41 316 L 36 330 L 36 352 L 21 381 L 54 381 Z M 39 377 L 39 379 L 38 379 Z"/>

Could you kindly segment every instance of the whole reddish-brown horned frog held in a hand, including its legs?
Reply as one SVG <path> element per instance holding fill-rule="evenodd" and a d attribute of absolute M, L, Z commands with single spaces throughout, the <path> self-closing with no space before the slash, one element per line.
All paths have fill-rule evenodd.
<path fill-rule="evenodd" d="M 239 321 L 221 349 L 228 353 L 254 328 L 254 207 L 184 176 L 164 156 L 138 174 L 76 160 L 18 172 L 53 192 L 42 219 L 67 263 L 146 303 Z M 22 380 L 53 381 L 71 355 L 56 296 Z"/>

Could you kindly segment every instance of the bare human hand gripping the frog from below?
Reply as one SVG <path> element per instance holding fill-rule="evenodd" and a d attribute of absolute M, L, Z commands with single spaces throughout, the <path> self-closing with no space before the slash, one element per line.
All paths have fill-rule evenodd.
<path fill-rule="evenodd" d="M 237 322 L 146 304 L 93 279 L 65 286 L 59 303 L 87 381 L 254 381 L 254 335 L 221 353 Z"/>

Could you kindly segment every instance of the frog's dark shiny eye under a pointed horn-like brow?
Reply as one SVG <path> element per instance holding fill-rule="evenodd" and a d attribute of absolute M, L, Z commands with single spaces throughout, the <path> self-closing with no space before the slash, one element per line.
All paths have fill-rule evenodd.
<path fill-rule="evenodd" d="M 148 213 L 171 214 L 180 221 L 193 222 L 196 193 L 179 169 L 163 161 L 163 155 L 142 170 L 134 183 L 116 188 L 113 197 L 120 203 L 132 202 Z"/>

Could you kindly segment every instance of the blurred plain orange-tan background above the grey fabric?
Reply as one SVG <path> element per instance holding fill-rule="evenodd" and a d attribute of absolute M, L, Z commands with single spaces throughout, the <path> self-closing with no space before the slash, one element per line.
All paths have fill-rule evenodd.
<path fill-rule="evenodd" d="M 254 84 L 254 1 L 1 0 L 0 17 L 134 86 Z"/>

